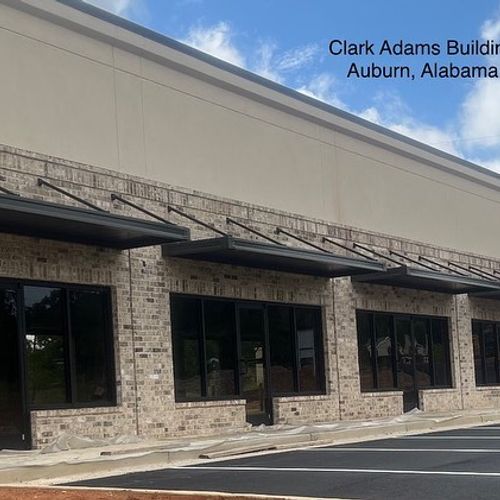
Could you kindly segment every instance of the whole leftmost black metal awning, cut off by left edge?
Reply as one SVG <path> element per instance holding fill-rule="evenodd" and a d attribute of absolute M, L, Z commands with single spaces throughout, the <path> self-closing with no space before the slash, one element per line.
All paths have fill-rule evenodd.
<path fill-rule="evenodd" d="M 0 195 L 0 232 L 127 249 L 189 239 L 189 229 L 17 195 Z"/>

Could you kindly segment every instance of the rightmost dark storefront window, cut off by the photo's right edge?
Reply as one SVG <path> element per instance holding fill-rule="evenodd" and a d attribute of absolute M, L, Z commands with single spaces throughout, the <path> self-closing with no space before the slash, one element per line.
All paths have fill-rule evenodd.
<path fill-rule="evenodd" d="M 472 321 L 476 385 L 500 385 L 500 323 Z"/>

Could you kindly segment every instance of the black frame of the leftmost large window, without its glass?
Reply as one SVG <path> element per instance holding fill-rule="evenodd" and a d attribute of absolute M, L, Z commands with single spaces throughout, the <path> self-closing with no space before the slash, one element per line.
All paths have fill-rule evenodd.
<path fill-rule="evenodd" d="M 47 280 L 31 280 L 31 279 L 15 279 L 15 278 L 0 278 L 1 285 L 7 285 L 18 290 L 18 303 L 19 303 L 19 322 L 20 322 L 20 343 L 22 345 L 22 383 L 23 399 L 25 401 L 26 410 L 29 411 L 43 411 L 43 410 L 65 410 L 65 409 L 79 409 L 79 408 L 101 408 L 113 407 L 117 405 L 117 390 L 116 390 L 116 364 L 114 352 L 114 322 L 113 322 L 113 307 L 112 307 L 112 291 L 109 286 L 102 285 L 84 285 L 64 283 L 59 281 Z M 47 287 L 47 288 L 60 288 L 62 290 L 62 308 L 63 308 L 63 338 L 64 338 L 64 356 L 65 362 L 68 363 L 65 371 L 65 384 L 67 391 L 67 402 L 64 403 L 51 403 L 43 405 L 30 404 L 27 399 L 27 380 L 28 380 L 28 360 L 26 355 L 26 321 L 25 321 L 25 304 L 24 304 L 24 287 Z M 72 357 L 71 350 L 73 348 L 73 339 L 71 335 L 71 312 L 69 304 L 69 294 L 72 291 L 94 291 L 104 293 L 105 296 L 105 356 L 107 365 L 107 380 L 106 387 L 109 391 L 109 400 L 91 401 L 80 403 L 76 397 L 76 360 Z M 72 375 L 73 374 L 73 377 Z"/>

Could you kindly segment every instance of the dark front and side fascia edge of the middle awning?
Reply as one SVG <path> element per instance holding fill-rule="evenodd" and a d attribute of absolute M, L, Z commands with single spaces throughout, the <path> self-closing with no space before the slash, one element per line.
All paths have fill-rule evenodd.
<path fill-rule="evenodd" d="M 272 243 L 262 243 L 254 240 L 244 240 L 233 236 L 222 236 L 219 238 L 209 238 L 194 241 L 182 241 L 178 243 L 167 243 L 163 245 L 163 252 L 170 257 L 185 257 L 196 255 L 200 252 L 233 250 L 273 257 L 296 258 L 304 261 L 314 261 L 325 264 L 339 264 L 352 266 L 367 271 L 383 271 L 384 264 L 370 260 L 344 257 L 330 252 L 320 252 L 304 248 L 274 245 Z"/>

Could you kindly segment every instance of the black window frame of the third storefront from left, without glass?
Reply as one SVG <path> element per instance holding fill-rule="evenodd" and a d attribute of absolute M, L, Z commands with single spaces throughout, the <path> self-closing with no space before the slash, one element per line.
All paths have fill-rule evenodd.
<path fill-rule="evenodd" d="M 450 336 L 450 320 L 446 316 L 440 316 L 440 315 L 427 315 L 427 314 L 406 314 L 406 313 L 393 313 L 393 312 L 386 312 L 386 311 L 373 311 L 373 310 L 368 310 L 368 309 L 356 309 L 356 338 L 358 339 L 358 315 L 359 314 L 368 314 L 370 315 L 370 338 L 371 338 L 371 348 L 372 352 L 376 353 L 376 334 L 375 334 L 375 318 L 376 316 L 389 316 L 390 317 L 390 324 L 391 324 L 391 342 L 392 346 L 396 345 L 396 321 L 398 319 L 403 319 L 403 320 L 409 320 L 410 321 L 410 327 L 413 331 L 414 325 L 413 325 L 413 320 L 415 319 L 423 319 L 426 320 L 428 323 L 428 330 L 427 330 L 427 335 L 429 339 L 429 344 L 431 346 L 431 351 L 429 354 L 429 366 L 431 369 L 431 384 L 430 385 L 421 385 L 418 387 L 418 389 L 450 389 L 453 388 L 453 377 L 452 377 L 452 372 L 451 372 L 451 349 L 450 349 L 450 342 L 451 342 L 451 336 Z M 433 320 L 445 320 L 447 324 L 447 342 L 443 345 L 445 345 L 445 360 L 446 360 L 446 374 L 449 379 L 449 384 L 440 384 L 440 385 L 433 385 L 434 381 L 436 380 L 436 367 L 433 362 Z M 360 383 L 360 391 L 362 393 L 369 393 L 369 392 L 394 392 L 394 391 L 399 391 L 399 380 L 398 380 L 398 372 L 397 372 L 397 359 L 396 359 L 396 352 L 395 349 L 392 349 L 392 376 L 393 376 L 393 387 L 389 388 L 379 388 L 379 383 L 378 383 L 378 370 L 377 370 L 377 356 L 372 356 L 371 359 L 371 369 L 372 369 L 372 380 L 373 380 L 373 388 L 372 389 L 363 389 L 361 387 L 361 378 L 359 380 Z M 359 345 L 358 345 L 358 362 L 359 362 Z"/>

